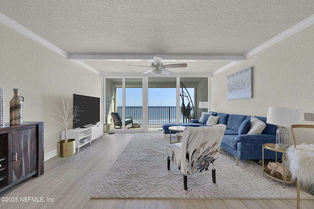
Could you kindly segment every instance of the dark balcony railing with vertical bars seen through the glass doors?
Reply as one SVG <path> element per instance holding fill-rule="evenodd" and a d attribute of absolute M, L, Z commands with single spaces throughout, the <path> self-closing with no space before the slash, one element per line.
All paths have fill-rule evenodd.
<path fill-rule="evenodd" d="M 175 106 L 169 107 L 148 107 L 148 125 L 161 125 L 166 122 L 176 122 L 177 108 Z M 122 107 L 117 108 L 117 112 L 122 116 Z M 180 107 L 181 112 L 181 107 Z M 143 118 L 142 107 L 126 107 L 126 117 L 132 117 L 133 122 L 142 123 Z M 193 108 L 191 108 L 191 114 L 194 113 Z M 180 114 L 180 121 L 183 121 L 183 115 Z"/>

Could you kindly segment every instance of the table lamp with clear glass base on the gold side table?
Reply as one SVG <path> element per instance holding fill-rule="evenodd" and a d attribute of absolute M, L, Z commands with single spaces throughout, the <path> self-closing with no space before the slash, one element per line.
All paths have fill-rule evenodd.
<path fill-rule="evenodd" d="M 266 123 L 280 126 L 276 130 L 275 147 L 287 149 L 289 146 L 289 132 L 284 126 L 290 127 L 292 124 L 298 124 L 300 119 L 300 110 L 284 107 L 268 107 Z"/>

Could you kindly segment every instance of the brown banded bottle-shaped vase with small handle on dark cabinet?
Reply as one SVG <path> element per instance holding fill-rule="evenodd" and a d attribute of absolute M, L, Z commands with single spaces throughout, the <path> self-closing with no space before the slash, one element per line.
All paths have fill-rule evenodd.
<path fill-rule="evenodd" d="M 19 89 L 13 89 L 14 96 L 10 100 L 10 125 L 23 124 L 23 101 L 24 97 L 19 95 Z"/>

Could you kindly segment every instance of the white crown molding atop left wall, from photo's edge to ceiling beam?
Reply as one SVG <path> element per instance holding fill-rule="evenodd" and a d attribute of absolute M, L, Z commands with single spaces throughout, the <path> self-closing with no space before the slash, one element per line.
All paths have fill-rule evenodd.
<path fill-rule="evenodd" d="M 36 33 L 32 32 L 31 30 L 27 29 L 26 27 L 24 27 L 20 23 L 17 23 L 14 20 L 8 18 L 7 16 L 3 15 L 2 13 L 0 13 L 0 22 L 9 26 L 10 28 L 16 30 L 17 32 L 21 33 L 22 35 L 25 35 L 26 37 L 34 40 L 35 42 L 37 42 L 43 46 L 46 46 L 47 48 L 50 48 L 52 51 L 68 58 L 69 54 L 67 52 L 63 51 L 59 47 L 53 45 L 52 43 L 50 43 L 46 39 L 42 38 L 41 36 L 37 35 Z"/>

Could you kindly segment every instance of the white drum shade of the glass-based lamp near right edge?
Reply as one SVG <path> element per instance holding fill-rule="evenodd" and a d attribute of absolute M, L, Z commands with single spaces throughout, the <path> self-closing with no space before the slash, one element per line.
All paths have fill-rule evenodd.
<path fill-rule="evenodd" d="M 268 107 L 266 123 L 290 127 L 298 124 L 300 120 L 300 110 L 284 107 Z"/>

